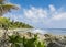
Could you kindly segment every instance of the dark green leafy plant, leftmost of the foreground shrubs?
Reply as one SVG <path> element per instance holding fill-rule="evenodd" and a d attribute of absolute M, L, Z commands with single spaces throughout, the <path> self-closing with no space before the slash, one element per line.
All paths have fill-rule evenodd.
<path fill-rule="evenodd" d="M 11 43 L 11 47 L 20 47 L 20 43 L 22 43 L 22 38 L 20 35 L 15 34 L 9 36 L 9 43 Z"/>

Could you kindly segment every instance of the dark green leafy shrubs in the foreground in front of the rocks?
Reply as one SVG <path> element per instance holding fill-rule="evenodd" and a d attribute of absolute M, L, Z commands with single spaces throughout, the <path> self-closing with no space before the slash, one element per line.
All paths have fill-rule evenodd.
<path fill-rule="evenodd" d="M 19 34 L 9 36 L 11 47 L 46 47 L 45 42 L 38 40 L 35 34 L 33 38 L 21 37 Z"/>

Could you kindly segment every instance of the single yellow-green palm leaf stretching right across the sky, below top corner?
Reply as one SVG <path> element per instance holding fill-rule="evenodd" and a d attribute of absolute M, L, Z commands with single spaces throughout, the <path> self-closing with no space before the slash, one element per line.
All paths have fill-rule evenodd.
<path fill-rule="evenodd" d="M 0 15 L 3 15 L 7 12 L 11 12 L 11 10 L 18 10 L 19 7 L 15 4 L 0 4 Z"/>

